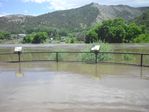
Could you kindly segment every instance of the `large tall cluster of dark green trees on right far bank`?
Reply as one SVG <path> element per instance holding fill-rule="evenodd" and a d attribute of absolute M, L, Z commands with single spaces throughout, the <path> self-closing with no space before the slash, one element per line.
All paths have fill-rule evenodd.
<path fill-rule="evenodd" d="M 149 34 L 146 32 L 145 26 L 137 25 L 134 22 L 128 23 L 121 18 L 106 20 L 86 32 L 85 43 L 149 42 Z"/>

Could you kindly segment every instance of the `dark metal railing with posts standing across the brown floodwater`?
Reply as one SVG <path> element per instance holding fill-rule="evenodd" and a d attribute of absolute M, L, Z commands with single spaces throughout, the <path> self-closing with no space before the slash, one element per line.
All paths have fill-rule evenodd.
<path fill-rule="evenodd" d="M 124 52 L 22 52 L 0 53 L 0 62 L 67 61 L 86 63 L 118 63 L 149 66 L 148 53 Z"/>

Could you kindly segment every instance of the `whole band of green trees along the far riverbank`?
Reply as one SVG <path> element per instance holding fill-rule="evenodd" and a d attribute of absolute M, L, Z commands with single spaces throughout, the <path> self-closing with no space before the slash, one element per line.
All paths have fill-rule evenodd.
<path fill-rule="evenodd" d="M 106 42 L 106 43 L 148 43 L 149 33 L 144 25 L 137 25 L 134 22 L 126 22 L 124 19 L 117 18 L 113 20 L 105 20 L 88 28 L 86 33 L 69 32 L 66 29 L 56 29 L 41 27 L 33 31 L 23 38 L 23 43 L 44 43 L 46 40 L 53 38 L 61 41 L 65 39 L 66 43 L 75 43 L 83 41 L 85 43 Z M 11 33 L 0 32 L 0 40 L 11 39 Z"/>

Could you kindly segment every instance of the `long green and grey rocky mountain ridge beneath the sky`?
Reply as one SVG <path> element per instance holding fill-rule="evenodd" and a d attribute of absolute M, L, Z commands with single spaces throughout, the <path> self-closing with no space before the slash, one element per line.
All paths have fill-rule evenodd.
<path fill-rule="evenodd" d="M 79 31 L 86 29 L 96 22 L 107 19 L 124 18 L 132 20 L 141 16 L 146 8 L 134 8 L 127 5 L 99 5 L 91 3 L 86 6 L 55 11 L 39 16 L 11 15 L 0 17 L 0 31 L 13 33 L 26 33 L 35 29 L 66 29 L 69 31 Z"/>

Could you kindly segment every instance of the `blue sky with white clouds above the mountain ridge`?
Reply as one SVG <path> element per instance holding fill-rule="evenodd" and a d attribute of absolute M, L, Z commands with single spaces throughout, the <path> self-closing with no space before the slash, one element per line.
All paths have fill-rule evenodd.
<path fill-rule="evenodd" d="M 149 0 L 0 0 L 0 16 L 12 14 L 37 16 L 57 10 L 81 7 L 92 2 L 100 5 L 149 6 Z"/>

